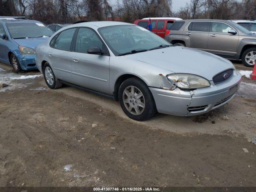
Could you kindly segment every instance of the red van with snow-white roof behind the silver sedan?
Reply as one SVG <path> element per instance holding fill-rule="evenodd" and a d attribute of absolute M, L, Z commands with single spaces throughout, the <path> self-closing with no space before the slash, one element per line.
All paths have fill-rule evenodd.
<path fill-rule="evenodd" d="M 151 19 L 152 32 L 164 38 L 165 33 L 168 32 L 168 28 L 177 20 L 182 20 L 181 18 L 174 17 L 152 17 L 135 20 L 134 24 L 148 29 L 149 19 Z M 167 31 L 166 31 L 167 30 Z"/>

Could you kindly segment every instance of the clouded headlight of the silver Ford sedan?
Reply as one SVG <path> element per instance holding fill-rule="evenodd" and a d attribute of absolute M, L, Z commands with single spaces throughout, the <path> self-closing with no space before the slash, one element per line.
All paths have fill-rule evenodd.
<path fill-rule="evenodd" d="M 171 84 L 181 89 L 197 89 L 210 86 L 210 82 L 207 79 L 197 75 L 174 73 L 166 77 Z"/>

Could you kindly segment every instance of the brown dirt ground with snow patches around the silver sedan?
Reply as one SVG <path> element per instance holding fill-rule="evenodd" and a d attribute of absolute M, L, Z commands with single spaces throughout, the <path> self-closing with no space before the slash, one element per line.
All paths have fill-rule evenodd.
<path fill-rule="evenodd" d="M 256 186 L 253 80 L 208 114 L 135 122 L 109 98 L 0 69 L 0 186 Z"/>

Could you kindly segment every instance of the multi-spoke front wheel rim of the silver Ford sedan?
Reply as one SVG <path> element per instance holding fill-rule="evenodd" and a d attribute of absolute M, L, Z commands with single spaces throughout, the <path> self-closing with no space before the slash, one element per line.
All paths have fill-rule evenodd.
<path fill-rule="evenodd" d="M 145 98 L 142 92 L 135 86 L 128 86 L 123 92 L 125 108 L 133 115 L 140 115 L 145 109 Z"/>

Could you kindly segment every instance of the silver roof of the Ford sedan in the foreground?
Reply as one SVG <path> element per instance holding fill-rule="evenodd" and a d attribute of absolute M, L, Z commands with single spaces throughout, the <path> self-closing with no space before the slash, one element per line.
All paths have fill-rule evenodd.
<path fill-rule="evenodd" d="M 108 26 L 118 26 L 118 25 L 134 25 L 125 22 L 118 22 L 118 21 L 93 21 L 93 22 L 82 22 L 77 24 L 72 24 L 72 27 L 86 27 L 86 26 L 94 26 L 94 28 L 102 28 Z"/>

